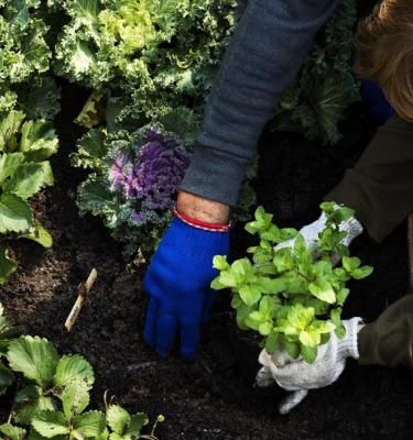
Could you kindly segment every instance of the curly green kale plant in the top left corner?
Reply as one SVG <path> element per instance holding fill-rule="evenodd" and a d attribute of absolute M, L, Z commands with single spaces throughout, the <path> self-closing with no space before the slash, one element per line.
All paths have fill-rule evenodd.
<path fill-rule="evenodd" d="M 45 1 L 0 0 L 0 113 L 17 106 L 30 118 L 54 117 L 58 88 L 47 77 L 52 59 Z"/>

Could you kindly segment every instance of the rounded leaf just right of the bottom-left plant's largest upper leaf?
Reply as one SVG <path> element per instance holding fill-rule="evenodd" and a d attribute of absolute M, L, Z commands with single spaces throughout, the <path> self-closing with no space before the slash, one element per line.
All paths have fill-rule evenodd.
<path fill-rule="evenodd" d="M 81 382 L 86 388 L 90 388 L 95 382 L 95 374 L 85 358 L 79 354 L 67 354 L 57 363 L 54 384 L 66 386 L 74 382 Z"/>

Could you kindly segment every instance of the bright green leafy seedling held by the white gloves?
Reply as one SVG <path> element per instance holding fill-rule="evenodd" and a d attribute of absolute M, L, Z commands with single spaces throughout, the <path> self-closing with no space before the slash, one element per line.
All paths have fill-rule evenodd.
<path fill-rule="evenodd" d="M 215 256 L 219 276 L 211 284 L 215 289 L 231 289 L 238 326 L 263 337 L 262 346 L 269 353 L 285 350 L 308 363 L 332 331 L 345 336 L 340 316 L 350 292 L 347 282 L 372 272 L 340 243 L 347 233 L 339 226 L 354 211 L 335 209 L 333 202 L 320 207 L 327 216 L 326 228 L 312 249 L 296 230 L 279 229 L 272 216 L 259 207 L 256 220 L 246 226 L 260 238 L 259 245 L 248 250 L 252 261 L 244 257 L 229 264 L 225 256 Z M 293 238 L 292 248 L 274 248 Z"/>

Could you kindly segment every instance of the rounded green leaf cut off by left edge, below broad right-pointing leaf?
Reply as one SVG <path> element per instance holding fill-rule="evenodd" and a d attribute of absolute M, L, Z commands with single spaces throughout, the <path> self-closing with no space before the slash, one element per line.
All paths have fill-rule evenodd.
<path fill-rule="evenodd" d="M 14 194 L 0 196 L 0 233 L 22 232 L 32 226 L 29 205 Z"/>

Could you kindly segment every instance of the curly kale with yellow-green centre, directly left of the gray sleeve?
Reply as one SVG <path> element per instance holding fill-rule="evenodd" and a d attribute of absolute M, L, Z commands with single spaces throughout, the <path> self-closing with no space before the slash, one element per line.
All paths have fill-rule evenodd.
<path fill-rule="evenodd" d="M 123 128 L 131 118 L 181 138 L 196 131 L 237 0 L 64 0 L 62 8 L 69 22 L 56 45 L 57 75 L 107 94 Z"/>

